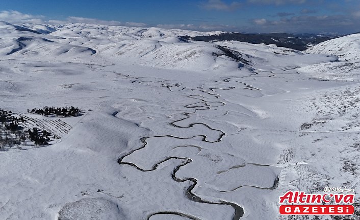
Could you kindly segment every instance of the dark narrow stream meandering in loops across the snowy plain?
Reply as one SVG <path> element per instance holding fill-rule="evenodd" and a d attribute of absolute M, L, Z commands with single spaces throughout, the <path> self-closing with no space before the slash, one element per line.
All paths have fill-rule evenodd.
<path fill-rule="evenodd" d="M 161 86 L 160 87 L 165 87 L 167 88 L 169 91 L 172 91 L 171 88 L 173 87 L 177 87 L 179 88 L 181 86 L 181 84 L 179 83 L 175 83 L 175 84 L 171 84 L 171 83 L 164 83 L 164 81 L 149 81 L 149 80 L 146 80 L 146 82 L 142 81 L 142 79 L 140 77 L 131 77 L 129 75 L 123 75 L 123 74 L 120 74 L 118 72 L 115 72 L 115 74 L 117 74 L 118 76 L 121 76 L 121 77 L 124 77 L 124 78 L 131 78 L 132 81 L 131 83 L 140 83 L 140 84 L 144 84 L 144 85 L 148 85 L 148 86 L 151 86 L 150 83 L 161 83 Z M 256 75 L 258 73 L 256 72 L 253 72 L 252 75 Z M 241 81 L 238 81 L 236 79 L 240 79 L 242 77 L 228 77 L 226 79 L 223 79 L 223 80 L 218 80 L 218 81 L 215 81 L 217 83 L 226 83 L 226 82 L 230 82 L 230 81 L 234 81 L 234 82 L 237 82 L 237 83 L 241 83 L 244 85 L 244 87 L 242 89 L 250 89 L 250 90 L 255 90 L 255 91 L 260 91 L 261 89 L 258 89 L 258 88 L 255 88 L 251 85 L 248 85 L 244 82 L 241 82 Z M 209 88 L 209 89 L 204 89 L 203 87 L 196 87 L 196 88 L 183 88 L 183 89 L 190 89 L 191 91 L 200 91 L 200 92 L 203 92 L 205 94 L 208 94 L 208 95 L 211 95 L 212 97 L 214 97 L 215 99 L 219 99 L 220 95 L 219 94 L 216 94 L 216 93 L 213 93 L 215 89 L 222 89 L 222 90 L 230 90 L 230 89 L 241 89 L 241 88 L 238 88 L 238 87 L 234 87 L 234 86 L 231 86 L 231 87 L 227 87 L 227 88 Z M 181 89 L 181 90 L 183 90 Z M 209 91 L 210 90 L 210 91 Z M 213 131 L 217 131 L 220 133 L 220 135 L 218 136 L 217 140 L 215 141 L 209 141 L 207 140 L 207 136 L 206 135 L 196 135 L 196 136 L 192 136 L 192 137 L 177 137 L 177 136 L 173 136 L 173 135 L 159 135 L 159 136 L 148 136 L 148 137 L 142 137 L 140 139 L 140 141 L 142 142 L 142 146 L 138 149 L 135 149 L 123 156 L 121 156 L 119 159 L 118 159 L 118 163 L 120 165 L 130 165 L 130 166 L 133 166 L 134 168 L 136 168 L 137 170 L 140 170 L 141 172 L 151 172 L 152 170 L 156 170 L 157 167 L 165 162 L 165 161 L 168 161 L 168 160 L 171 160 L 171 159 L 176 159 L 176 160 L 183 160 L 185 162 L 177 165 L 174 169 L 173 169 L 173 172 L 171 174 L 171 177 L 174 181 L 176 182 L 185 182 L 185 181 L 190 181 L 192 182 L 192 184 L 186 189 L 185 191 L 185 195 L 186 197 L 193 201 L 193 202 L 196 202 L 196 203 L 207 203 L 207 204 L 216 204 L 216 205 L 225 205 L 225 206 L 231 206 L 234 208 L 235 210 L 235 213 L 234 213 L 234 216 L 233 216 L 233 220 L 239 220 L 243 214 L 244 214 L 244 209 L 235 204 L 235 203 L 232 203 L 232 202 L 227 202 L 227 201 L 222 201 L 222 200 L 219 200 L 219 202 L 211 202 L 211 201 L 207 201 L 207 200 L 204 200 L 202 199 L 201 197 L 199 197 L 198 195 L 196 195 L 194 192 L 192 192 L 192 190 L 194 189 L 194 187 L 196 186 L 197 184 L 197 179 L 195 178 L 192 178 L 192 177 L 189 177 L 189 178 L 184 178 L 184 179 L 181 179 L 181 178 L 178 178 L 176 177 L 176 172 L 182 167 L 182 166 L 185 166 L 189 163 L 192 162 L 192 159 L 191 158 L 187 158 L 187 157 L 167 157 L 166 159 L 162 160 L 162 161 L 159 161 L 158 163 L 154 164 L 150 169 L 143 169 L 143 168 L 140 168 L 139 166 L 137 166 L 135 163 L 131 163 L 131 162 L 124 162 L 123 159 L 128 156 L 128 155 L 131 155 L 133 154 L 135 151 L 139 151 L 143 148 L 145 148 L 145 146 L 147 145 L 147 142 L 146 140 L 148 138 L 161 138 L 161 137 L 172 137 L 172 138 L 176 138 L 176 139 L 191 139 L 191 138 L 194 138 L 194 137 L 201 137 L 201 141 L 204 141 L 204 142 L 209 142 L 209 143 L 216 143 L 216 142 L 220 142 L 222 140 L 222 138 L 226 135 L 223 131 L 221 130 L 218 130 L 218 129 L 214 129 L 212 127 L 210 127 L 209 125 L 205 124 L 205 123 L 191 123 L 191 124 L 188 124 L 188 126 L 179 126 L 179 125 L 176 125 L 176 123 L 178 123 L 179 121 L 182 121 L 182 120 L 185 120 L 187 118 L 190 118 L 191 117 L 191 114 L 194 114 L 196 113 L 197 111 L 199 110 L 210 110 L 212 107 L 220 107 L 220 106 L 224 106 L 226 105 L 224 102 L 219 102 L 219 101 L 206 101 L 205 99 L 209 99 L 208 97 L 205 97 L 205 96 L 201 96 L 201 95 L 198 95 L 198 94 L 191 94 L 191 95 L 188 95 L 187 97 L 191 98 L 191 99 L 197 99 L 199 100 L 198 102 L 196 103 L 192 103 L 192 104 L 188 104 L 188 105 L 185 105 L 184 107 L 185 108 L 189 108 L 189 109 L 193 109 L 193 111 L 191 112 L 183 112 L 181 113 L 182 115 L 184 115 L 185 117 L 184 118 L 181 118 L 181 119 L 178 119 L 178 120 L 174 120 L 172 122 L 169 123 L 169 125 L 175 127 L 175 128 L 191 128 L 193 127 L 194 125 L 202 125 L 210 130 L 213 130 Z M 213 105 L 212 105 L 213 104 Z M 114 115 L 115 116 L 115 115 Z M 178 148 L 178 147 L 195 147 L 195 148 L 198 148 L 199 151 L 201 151 L 201 146 L 196 146 L 196 145 L 181 145 L 181 146 L 175 146 L 175 148 Z M 250 163 L 249 163 L 250 164 Z M 239 165 L 239 166 L 234 166 L 232 168 L 239 168 L 239 167 L 242 167 L 242 166 L 245 166 L 246 164 L 243 164 L 243 165 Z M 253 165 L 259 165 L 259 166 L 268 166 L 268 165 L 262 165 L 262 164 L 253 164 Z M 244 186 L 247 186 L 247 187 L 255 187 L 255 188 L 260 188 L 260 189 L 269 189 L 269 190 L 272 190 L 272 189 L 275 189 L 278 185 L 278 177 L 274 180 L 274 184 L 272 187 L 265 187 L 265 188 L 262 188 L 262 187 L 256 187 L 256 186 L 247 186 L 247 185 L 243 185 L 243 186 L 239 186 L 239 187 L 236 187 L 232 190 L 229 190 L 229 191 L 235 191 L 237 190 L 238 188 L 241 188 L 241 187 L 244 187 Z M 219 192 L 228 192 L 228 191 L 220 191 L 220 190 L 216 190 L 216 191 L 219 191 Z M 150 219 L 152 216 L 155 216 L 155 215 L 163 215 L 163 214 L 171 214 L 171 215 L 178 215 L 178 216 L 182 216 L 182 217 L 186 217 L 186 218 L 189 218 L 189 219 L 192 219 L 192 220 L 201 220 L 200 218 L 198 217 L 195 217 L 193 215 L 189 215 L 189 214 L 186 214 L 186 213 L 181 213 L 181 212 L 175 212 L 175 211 L 159 211 L 159 212 L 154 212 L 154 213 L 151 213 L 150 215 L 147 216 L 146 219 Z"/>

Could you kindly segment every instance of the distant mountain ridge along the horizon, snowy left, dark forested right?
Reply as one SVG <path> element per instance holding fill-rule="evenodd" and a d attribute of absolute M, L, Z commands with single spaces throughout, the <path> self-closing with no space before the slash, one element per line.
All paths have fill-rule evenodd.
<path fill-rule="evenodd" d="M 79 37 L 87 36 L 90 34 L 88 31 L 78 30 L 78 32 L 67 32 L 66 30 L 73 29 L 80 24 L 64 24 L 64 25 L 41 25 L 33 23 L 24 23 L 13 25 L 6 21 L 0 21 L 0 28 L 6 28 L 8 30 L 22 31 L 24 33 L 34 33 L 40 35 L 53 35 L 53 33 L 66 32 L 67 37 Z M 286 47 L 298 51 L 310 50 L 310 48 L 315 45 L 322 43 L 324 41 L 337 39 L 339 37 L 344 37 L 348 35 L 326 35 L 326 34 L 289 34 L 289 33 L 237 33 L 237 32 L 223 32 L 223 31 L 210 31 L 210 32 L 201 32 L 201 31 L 190 31 L 190 30 L 180 30 L 180 29 L 159 29 L 159 28 L 130 28 L 130 27 L 114 27 L 115 32 L 108 31 L 108 26 L 103 25 L 86 25 L 81 24 L 84 27 L 90 28 L 97 27 L 99 33 L 91 31 L 90 35 L 92 37 L 98 37 L 104 34 L 129 34 L 128 37 L 135 38 L 161 38 L 163 41 L 166 37 L 166 41 L 182 41 L 189 42 L 187 40 L 193 41 L 204 41 L 204 42 L 217 42 L 217 41 L 239 41 L 246 42 L 251 44 L 274 44 L 279 47 Z M 78 29 L 78 28 L 75 28 Z M 356 33 L 355 33 L 356 34 Z M 56 36 L 57 34 L 54 34 Z M 66 36 L 62 36 L 65 37 Z M 42 37 L 40 37 L 42 38 Z M 85 42 L 84 42 L 85 43 Z M 170 42 L 169 42 L 170 43 Z M 82 45 L 79 45 L 82 46 Z M 94 53 L 94 51 L 92 51 Z"/>

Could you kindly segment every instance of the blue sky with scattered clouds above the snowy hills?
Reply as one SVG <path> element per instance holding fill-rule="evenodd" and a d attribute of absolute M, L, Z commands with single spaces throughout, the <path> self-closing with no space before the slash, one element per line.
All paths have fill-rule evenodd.
<path fill-rule="evenodd" d="M 358 0 L 1 0 L 0 20 L 86 22 L 200 31 L 354 33 Z"/>

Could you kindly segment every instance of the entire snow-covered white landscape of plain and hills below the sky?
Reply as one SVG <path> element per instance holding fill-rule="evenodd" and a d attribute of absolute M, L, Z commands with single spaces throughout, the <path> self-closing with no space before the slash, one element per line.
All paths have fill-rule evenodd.
<path fill-rule="evenodd" d="M 358 219 L 360 34 L 182 38 L 219 33 L 1 21 L 0 109 L 23 120 L 0 135 L 48 139 L 0 144 L 0 219 Z M 51 107 L 69 117 L 29 111 Z M 279 215 L 326 186 L 354 189 L 355 214 Z"/>

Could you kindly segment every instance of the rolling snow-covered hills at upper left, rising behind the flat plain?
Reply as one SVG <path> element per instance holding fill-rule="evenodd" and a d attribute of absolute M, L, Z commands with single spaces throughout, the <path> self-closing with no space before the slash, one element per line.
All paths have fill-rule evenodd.
<path fill-rule="evenodd" d="M 14 56 L 31 54 L 33 57 L 63 56 L 70 59 L 98 54 L 120 59 L 126 57 L 140 65 L 171 69 L 206 70 L 227 65 L 237 68 L 239 65 L 238 60 L 232 62 L 234 57 L 229 57 L 228 53 L 211 43 L 194 44 L 180 37 L 199 34 L 194 31 L 74 23 L 57 27 L 23 25 L 23 31 L 13 32 L 16 27 L 9 23 L 1 26 L 3 38 L 0 42 L 4 46 L 0 53 Z M 29 32 L 29 28 L 47 34 Z M 241 59 L 246 62 L 247 58 L 243 56 Z"/>

